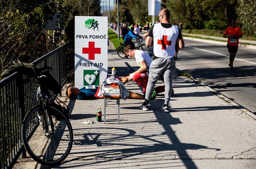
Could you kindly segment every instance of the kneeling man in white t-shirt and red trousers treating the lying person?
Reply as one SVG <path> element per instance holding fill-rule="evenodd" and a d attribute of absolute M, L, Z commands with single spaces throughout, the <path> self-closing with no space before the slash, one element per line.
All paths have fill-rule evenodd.
<path fill-rule="evenodd" d="M 147 83 L 148 83 L 148 75 L 149 75 L 148 70 L 152 62 L 151 57 L 145 51 L 136 50 L 131 45 L 127 45 L 124 48 L 123 52 L 125 53 L 126 56 L 135 57 L 136 63 L 140 66 L 140 68 L 137 71 L 122 78 L 123 84 L 133 80 L 143 88 L 143 93 L 145 94 Z M 156 87 L 153 91 L 153 94 L 151 95 L 151 100 L 155 99 L 158 93 L 162 93 L 164 91 L 165 91 L 165 86 Z"/>

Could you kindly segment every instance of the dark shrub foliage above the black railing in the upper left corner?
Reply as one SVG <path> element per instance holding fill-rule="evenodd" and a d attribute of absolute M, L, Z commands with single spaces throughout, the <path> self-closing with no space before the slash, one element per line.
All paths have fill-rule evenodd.
<path fill-rule="evenodd" d="M 0 14 L 0 71 L 17 62 L 32 62 L 47 50 L 41 35 L 42 27 L 56 12 L 64 13 L 69 7 L 61 8 L 61 0 L 1 0 Z"/>

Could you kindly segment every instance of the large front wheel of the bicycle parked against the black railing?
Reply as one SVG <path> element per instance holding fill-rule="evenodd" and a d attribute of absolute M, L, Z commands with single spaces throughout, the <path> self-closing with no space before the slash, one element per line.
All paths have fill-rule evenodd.
<path fill-rule="evenodd" d="M 25 116 L 22 124 L 22 139 L 30 157 L 40 164 L 52 166 L 63 161 L 72 148 L 73 130 L 66 116 L 49 106 L 52 114 L 54 132 L 47 125 L 49 117 L 45 118 L 45 111 L 41 105 L 33 107 Z"/>

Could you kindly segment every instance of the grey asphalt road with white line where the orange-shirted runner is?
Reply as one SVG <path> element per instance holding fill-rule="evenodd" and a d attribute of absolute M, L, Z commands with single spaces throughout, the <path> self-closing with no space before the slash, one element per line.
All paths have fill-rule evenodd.
<path fill-rule="evenodd" d="M 184 41 L 176 67 L 256 114 L 256 50 L 238 48 L 235 71 L 230 72 L 225 45 Z"/>

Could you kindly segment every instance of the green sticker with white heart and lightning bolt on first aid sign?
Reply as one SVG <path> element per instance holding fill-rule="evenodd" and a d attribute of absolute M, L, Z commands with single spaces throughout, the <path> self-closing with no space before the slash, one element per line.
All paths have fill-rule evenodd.
<path fill-rule="evenodd" d="M 84 70 L 84 86 L 99 86 L 99 70 Z"/>

